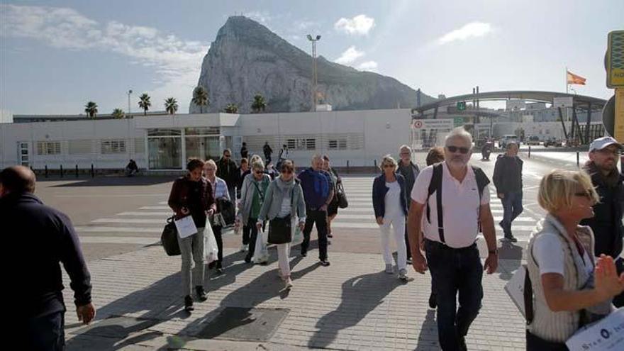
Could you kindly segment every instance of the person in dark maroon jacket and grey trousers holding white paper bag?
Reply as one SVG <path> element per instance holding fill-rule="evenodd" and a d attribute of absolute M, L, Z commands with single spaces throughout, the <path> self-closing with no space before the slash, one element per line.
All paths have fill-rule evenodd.
<path fill-rule="evenodd" d="M 206 257 L 204 255 L 204 229 L 207 218 L 215 210 L 213 189 L 208 181 L 201 177 L 204 170 L 204 161 L 191 159 L 186 165 L 189 171 L 184 177 L 180 177 L 173 183 L 169 194 L 169 207 L 174 211 L 177 219 L 191 216 L 197 233 L 184 239 L 178 236 L 180 253 L 182 254 L 182 296 L 184 296 L 184 309 L 193 311 L 192 286 L 199 301 L 206 301 L 204 290 L 204 274 Z M 193 263 L 194 267 L 193 267 Z M 192 269 L 192 272 L 191 272 Z M 191 279 L 192 276 L 192 279 Z M 191 280 L 193 285 L 191 286 Z"/>

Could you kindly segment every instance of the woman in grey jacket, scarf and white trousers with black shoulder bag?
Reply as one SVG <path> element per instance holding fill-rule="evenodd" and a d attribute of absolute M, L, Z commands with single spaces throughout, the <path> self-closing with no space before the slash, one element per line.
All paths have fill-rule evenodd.
<path fill-rule="evenodd" d="M 262 221 L 269 220 L 269 243 L 272 243 L 272 230 L 276 232 L 283 228 L 289 228 L 290 233 L 285 233 L 284 240 L 277 240 L 277 260 L 279 262 L 279 276 L 284 280 L 285 288 L 292 287 L 290 276 L 290 242 L 294 234 L 294 228 L 299 225 L 303 230 L 306 223 L 306 204 L 303 201 L 303 190 L 299 181 L 294 178 L 294 165 L 291 160 L 284 160 L 280 165 L 280 174 L 267 188 L 264 196 L 264 204 L 260 209 L 257 221 L 257 230 L 262 228 Z M 299 217 L 298 217 L 299 216 Z M 279 235 L 282 236 L 282 235 Z M 284 243 L 281 243 L 281 242 Z"/>

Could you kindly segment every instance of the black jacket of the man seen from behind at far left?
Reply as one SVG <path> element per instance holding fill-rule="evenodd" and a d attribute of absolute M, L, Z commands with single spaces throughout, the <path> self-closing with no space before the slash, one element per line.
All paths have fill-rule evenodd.
<path fill-rule="evenodd" d="M 0 221 L 5 255 L 13 257 L 11 267 L 5 267 L 9 275 L 5 282 L 14 295 L 6 300 L 18 312 L 14 316 L 35 318 L 65 311 L 60 264 L 69 275 L 74 303 L 91 302 L 91 275 L 78 235 L 64 213 L 33 194 L 8 194 L 0 199 Z"/>

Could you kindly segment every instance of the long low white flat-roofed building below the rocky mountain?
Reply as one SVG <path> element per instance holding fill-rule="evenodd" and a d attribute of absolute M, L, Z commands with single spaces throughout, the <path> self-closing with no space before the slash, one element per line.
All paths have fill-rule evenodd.
<path fill-rule="evenodd" d="M 277 158 L 281 145 L 298 167 L 314 154 L 333 165 L 372 166 L 411 143 L 411 110 L 227 113 L 140 116 L 130 119 L 0 124 L 0 165 L 34 169 L 123 169 L 128 160 L 148 170 L 179 171 L 190 157 L 218 158 L 240 145 L 262 155 L 268 142 Z"/>

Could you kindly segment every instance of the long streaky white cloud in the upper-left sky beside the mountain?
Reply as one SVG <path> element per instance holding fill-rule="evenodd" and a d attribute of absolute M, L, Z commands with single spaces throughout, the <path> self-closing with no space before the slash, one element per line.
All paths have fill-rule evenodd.
<path fill-rule="evenodd" d="M 156 28 L 98 23 L 73 9 L 0 4 L 0 15 L 1 36 L 40 40 L 61 49 L 114 52 L 129 57 L 133 64 L 154 67 L 157 88 L 147 91 L 152 101 L 175 96 L 181 111 L 190 100 L 209 47 Z M 155 106 L 160 108 L 160 102 Z"/>

